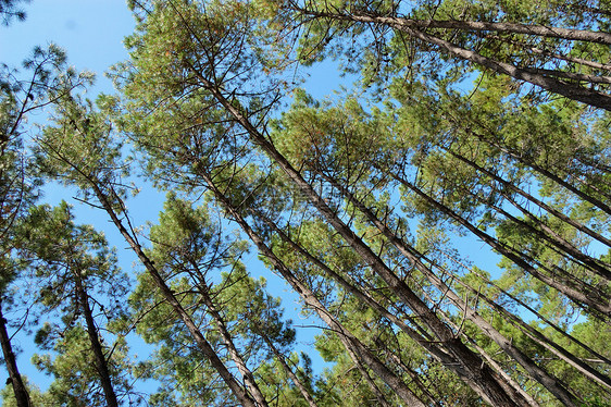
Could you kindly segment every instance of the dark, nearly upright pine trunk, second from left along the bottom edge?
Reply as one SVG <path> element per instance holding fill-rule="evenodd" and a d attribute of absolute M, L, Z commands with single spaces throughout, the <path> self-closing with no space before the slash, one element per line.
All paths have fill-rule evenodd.
<path fill-rule="evenodd" d="M 93 351 L 93 358 L 96 359 L 96 371 L 98 372 L 100 382 L 102 383 L 102 390 L 104 392 L 107 405 L 109 407 L 119 407 L 116 394 L 114 393 L 114 388 L 112 386 L 112 381 L 110 378 L 107 358 L 104 356 L 104 351 L 102 350 L 102 344 L 100 344 L 100 337 L 98 334 L 96 322 L 93 321 L 91 308 L 89 307 L 89 297 L 85 292 L 85 287 L 83 286 L 83 281 L 80 280 L 78 272 L 79 271 L 76 270 L 75 273 L 76 294 L 80 303 L 80 309 L 83 310 L 83 314 L 85 317 L 89 343 L 91 345 L 91 350 Z"/>

